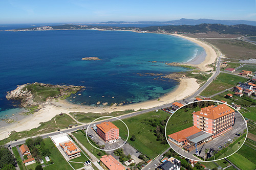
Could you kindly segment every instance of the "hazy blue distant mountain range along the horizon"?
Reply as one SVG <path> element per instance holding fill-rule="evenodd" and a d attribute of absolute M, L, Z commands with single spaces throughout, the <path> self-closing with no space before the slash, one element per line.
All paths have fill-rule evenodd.
<path fill-rule="evenodd" d="M 256 26 L 256 21 L 249 20 L 215 20 L 215 19 L 186 19 L 181 18 L 179 20 L 171 20 L 171 21 L 137 21 L 137 22 L 126 22 L 126 21 L 108 21 L 108 22 L 100 22 L 100 24 L 152 24 L 152 25 L 200 25 L 201 23 L 220 23 L 222 25 L 250 25 Z"/>

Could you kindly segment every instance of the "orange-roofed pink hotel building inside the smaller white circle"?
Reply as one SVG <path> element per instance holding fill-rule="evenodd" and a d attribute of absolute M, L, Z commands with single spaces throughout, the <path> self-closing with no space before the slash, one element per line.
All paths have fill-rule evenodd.
<path fill-rule="evenodd" d="M 119 138 L 119 129 L 111 122 L 98 124 L 96 132 L 105 142 Z"/>

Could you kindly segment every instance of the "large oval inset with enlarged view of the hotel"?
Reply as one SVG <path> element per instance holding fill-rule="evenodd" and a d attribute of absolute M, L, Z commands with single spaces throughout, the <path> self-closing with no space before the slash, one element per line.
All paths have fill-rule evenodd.
<path fill-rule="evenodd" d="M 219 101 L 184 105 L 169 117 L 166 140 L 174 151 L 188 159 L 224 159 L 237 152 L 247 137 L 245 119 L 237 109 Z"/>

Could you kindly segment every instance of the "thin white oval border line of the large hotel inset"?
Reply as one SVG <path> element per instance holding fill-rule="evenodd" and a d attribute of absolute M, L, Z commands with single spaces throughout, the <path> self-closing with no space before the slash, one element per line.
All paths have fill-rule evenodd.
<path fill-rule="evenodd" d="M 186 105 L 189 105 L 189 104 L 192 104 L 192 103 L 196 103 L 196 102 L 205 102 L 205 101 L 211 101 L 211 102 L 219 102 L 219 103 L 222 103 L 222 104 L 225 104 L 225 103 L 223 103 L 223 102 L 221 102 L 221 101 L 214 101 L 214 100 L 201 100 L 201 101 L 194 101 L 194 102 L 189 102 L 189 103 L 187 103 Z M 183 106 L 181 106 L 179 109 L 181 109 L 182 107 L 184 107 L 184 106 L 186 106 L 186 105 L 183 105 Z M 233 108 L 232 106 L 230 106 L 229 104 L 225 104 L 225 105 L 227 105 L 227 106 L 229 106 L 229 107 L 231 107 L 231 108 Z M 177 109 L 177 110 L 179 110 L 179 109 Z M 245 122 L 245 125 L 246 125 L 246 136 L 245 136 L 245 140 L 247 139 L 247 135 L 248 135 L 248 127 L 247 127 L 247 123 L 246 123 L 246 120 L 245 120 L 245 118 L 244 118 L 244 116 L 237 110 L 237 109 L 235 109 L 235 108 L 233 108 L 234 110 L 236 110 L 242 117 L 243 117 L 243 119 L 244 119 L 244 122 Z M 177 111 L 176 110 L 176 111 Z M 175 111 L 175 112 L 176 112 Z M 173 113 L 173 114 L 175 114 L 175 112 Z M 172 115 L 173 115 L 172 114 Z M 172 115 L 170 115 L 170 117 L 172 117 Z M 167 140 L 167 143 L 169 144 L 169 141 L 168 141 L 168 138 L 167 138 L 167 135 L 166 135 L 166 127 L 167 127 L 167 124 L 168 124 L 168 122 L 169 122 L 169 119 L 170 119 L 170 117 L 168 118 L 168 120 L 167 120 L 167 122 L 166 122 L 166 125 L 165 125 L 165 139 Z M 242 148 L 242 146 L 244 145 L 244 143 L 245 143 L 245 140 L 244 140 L 244 142 L 243 142 L 243 144 L 241 145 L 241 147 L 240 148 Z M 173 149 L 173 147 L 169 144 L 169 146 L 170 146 L 170 148 L 172 148 Z M 240 148 L 238 149 L 238 150 L 240 150 Z M 173 149 L 174 150 L 174 149 Z M 237 150 L 237 151 L 238 151 Z M 175 151 L 175 150 L 174 150 Z M 235 151 L 234 153 L 236 153 L 237 151 Z M 178 153 L 177 151 L 175 151 L 176 153 Z M 224 158 L 221 158 L 221 159 L 217 159 L 217 160 L 211 160 L 211 161 L 204 161 L 204 160 L 195 160 L 195 159 L 191 159 L 191 158 L 188 158 L 188 157 L 185 157 L 185 156 L 183 156 L 182 154 L 180 154 L 180 153 L 178 153 L 179 155 L 181 155 L 181 156 L 183 156 L 184 158 L 187 158 L 187 159 L 191 159 L 191 160 L 194 160 L 194 161 L 199 161 L 199 162 L 214 162 L 214 161 L 219 161 L 219 160 L 223 160 L 223 159 L 225 159 L 225 158 L 227 158 L 227 157 L 229 157 L 229 156 L 231 156 L 231 155 L 233 155 L 234 153 L 232 153 L 232 154 L 230 154 L 230 155 L 228 155 L 228 156 L 226 156 L 226 157 L 224 157 Z"/>

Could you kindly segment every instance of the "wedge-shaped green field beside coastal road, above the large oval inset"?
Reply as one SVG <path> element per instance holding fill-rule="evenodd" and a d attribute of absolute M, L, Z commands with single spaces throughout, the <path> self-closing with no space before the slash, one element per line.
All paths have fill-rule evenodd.
<path fill-rule="evenodd" d="M 236 86 L 239 82 L 245 82 L 246 80 L 246 78 L 221 72 L 220 75 L 214 81 L 212 81 L 211 84 L 206 89 L 204 89 L 200 95 L 210 96 L 212 94 L 216 94 L 225 89 Z"/>

